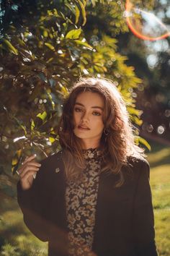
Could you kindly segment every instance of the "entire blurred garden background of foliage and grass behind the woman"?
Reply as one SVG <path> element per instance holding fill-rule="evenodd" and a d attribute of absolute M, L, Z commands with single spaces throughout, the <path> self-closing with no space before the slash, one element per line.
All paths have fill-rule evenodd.
<path fill-rule="evenodd" d="M 80 76 L 121 91 L 146 148 L 159 255 L 170 255 L 168 0 L 0 1 L 0 252 L 47 255 L 17 206 L 17 168 L 60 150 L 63 99 Z"/>

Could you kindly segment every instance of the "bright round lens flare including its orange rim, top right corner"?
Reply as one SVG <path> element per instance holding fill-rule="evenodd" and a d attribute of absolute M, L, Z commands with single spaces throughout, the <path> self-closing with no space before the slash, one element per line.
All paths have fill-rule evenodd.
<path fill-rule="evenodd" d="M 126 1 L 124 17 L 128 27 L 138 38 L 152 41 L 167 38 L 170 35 L 169 25 L 165 22 L 167 12 L 170 13 L 170 6 L 166 8 L 166 13 L 157 6 L 158 1 L 153 1 L 152 7 L 147 1 Z"/>

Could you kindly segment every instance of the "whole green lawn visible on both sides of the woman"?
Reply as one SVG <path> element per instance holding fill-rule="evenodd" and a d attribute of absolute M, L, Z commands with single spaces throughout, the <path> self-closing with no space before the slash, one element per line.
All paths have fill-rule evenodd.
<path fill-rule="evenodd" d="M 170 148 L 153 148 L 151 189 L 155 214 L 156 244 L 160 256 L 170 255 Z M 47 244 L 40 242 L 24 226 L 17 199 L 0 194 L 0 255 L 45 256 Z"/>

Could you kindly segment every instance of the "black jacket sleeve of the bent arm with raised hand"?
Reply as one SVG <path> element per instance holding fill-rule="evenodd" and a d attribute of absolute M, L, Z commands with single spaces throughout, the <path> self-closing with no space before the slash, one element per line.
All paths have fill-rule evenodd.
<path fill-rule="evenodd" d="M 43 242 L 48 241 L 49 230 L 48 187 L 45 182 L 48 177 L 46 173 L 48 171 L 42 161 L 42 166 L 30 189 L 23 190 L 20 182 L 17 184 L 17 200 L 23 213 L 24 223 Z"/>

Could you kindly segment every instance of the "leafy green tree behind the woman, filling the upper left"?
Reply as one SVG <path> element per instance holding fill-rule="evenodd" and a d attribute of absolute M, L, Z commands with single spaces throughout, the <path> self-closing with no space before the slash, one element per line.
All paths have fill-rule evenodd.
<path fill-rule="evenodd" d="M 5 2 L 2 1 L 1 6 Z M 42 158 L 59 148 L 56 127 L 63 98 L 80 75 L 112 79 L 125 98 L 133 124 L 137 127 L 142 124 L 141 111 L 135 108 L 133 97 L 133 88 L 141 80 L 135 76 L 133 67 L 125 64 L 127 58 L 117 53 L 117 40 L 97 30 L 96 25 L 94 34 L 91 30 L 88 35 L 89 30 L 84 28 L 86 19 L 92 19 L 96 10 L 100 12 L 102 7 L 107 14 L 109 4 L 112 4 L 115 11 L 110 14 L 109 22 L 111 19 L 115 21 L 116 34 L 125 31 L 120 5 L 117 1 L 92 3 L 85 0 L 53 4 L 36 1 L 32 9 L 29 1 L 15 1 L 12 17 L 6 13 L 6 9 L 9 12 L 12 6 L 3 6 L 0 160 L 1 177 L 8 177 L 8 182 L 2 185 L 4 187 L 6 183 L 12 185 L 17 180 L 10 175 L 11 162 L 14 174 L 25 155 L 36 151 Z M 25 4 L 27 12 L 22 13 Z M 148 146 L 138 137 L 138 132 L 136 140 Z"/>

